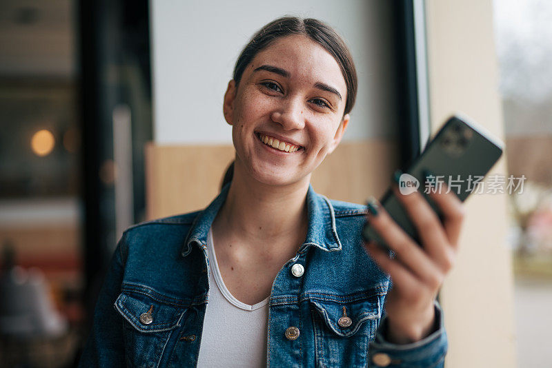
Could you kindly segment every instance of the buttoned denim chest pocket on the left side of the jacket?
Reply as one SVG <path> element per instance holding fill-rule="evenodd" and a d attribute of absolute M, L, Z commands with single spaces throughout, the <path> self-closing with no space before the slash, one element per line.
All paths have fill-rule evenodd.
<path fill-rule="evenodd" d="M 124 339 L 128 367 L 158 367 L 170 354 L 167 343 L 181 326 L 186 307 L 165 301 L 159 294 L 122 292 L 115 309 L 124 318 Z"/>

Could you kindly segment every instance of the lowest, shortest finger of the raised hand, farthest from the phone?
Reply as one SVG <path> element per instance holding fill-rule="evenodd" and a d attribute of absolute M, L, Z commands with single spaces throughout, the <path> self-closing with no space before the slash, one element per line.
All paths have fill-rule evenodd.
<path fill-rule="evenodd" d="M 398 263 L 397 260 L 389 258 L 386 251 L 380 245 L 370 242 L 366 243 L 365 248 L 380 269 L 391 277 L 393 287 L 398 292 L 413 292 L 420 289 L 422 286 L 421 281 L 403 265 Z"/>

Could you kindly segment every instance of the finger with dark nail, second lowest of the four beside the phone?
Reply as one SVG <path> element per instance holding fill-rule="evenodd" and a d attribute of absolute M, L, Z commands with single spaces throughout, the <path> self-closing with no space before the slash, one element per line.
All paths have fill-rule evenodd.
<path fill-rule="evenodd" d="M 435 275 L 440 269 L 433 263 L 433 260 L 424 252 L 420 245 L 404 232 L 389 216 L 384 207 L 377 205 L 374 198 L 368 203 L 371 216 L 369 218 L 373 229 L 380 234 L 383 241 L 395 252 L 400 263 L 407 267 L 417 278 L 433 285 Z M 377 206 L 377 209 L 373 207 Z M 375 213 L 374 213 L 375 212 Z"/>

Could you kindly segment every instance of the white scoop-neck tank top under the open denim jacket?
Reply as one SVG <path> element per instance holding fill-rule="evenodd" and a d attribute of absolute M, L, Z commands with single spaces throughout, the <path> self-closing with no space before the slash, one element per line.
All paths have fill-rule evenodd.
<path fill-rule="evenodd" d="M 207 235 L 209 303 L 197 367 L 266 367 L 268 298 L 255 305 L 237 300 L 222 280 L 213 234 Z"/>

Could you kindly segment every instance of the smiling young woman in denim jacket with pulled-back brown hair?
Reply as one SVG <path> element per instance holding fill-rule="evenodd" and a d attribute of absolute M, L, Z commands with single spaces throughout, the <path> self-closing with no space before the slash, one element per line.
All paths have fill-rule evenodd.
<path fill-rule="evenodd" d="M 356 91 L 351 54 L 328 25 L 284 17 L 259 30 L 224 95 L 230 183 L 203 211 L 124 232 L 81 366 L 442 366 L 435 296 L 462 203 L 432 194 L 441 222 L 420 193 L 396 190 L 420 247 L 375 201 L 330 201 L 310 185 Z M 366 218 L 395 257 L 362 239 Z"/>

